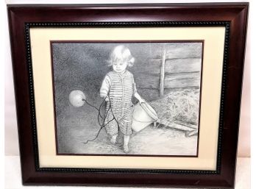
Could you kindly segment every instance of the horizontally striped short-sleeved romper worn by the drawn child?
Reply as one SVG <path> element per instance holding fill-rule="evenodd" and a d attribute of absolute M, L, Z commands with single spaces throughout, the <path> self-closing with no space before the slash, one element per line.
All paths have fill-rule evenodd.
<path fill-rule="evenodd" d="M 118 126 L 124 135 L 132 134 L 132 95 L 136 92 L 133 75 L 129 71 L 124 74 L 118 74 L 115 71 L 110 71 L 102 82 L 100 93 L 107 94 L 110 101 L 107 101 L 106 119 L 104 124 L 107 124 L 113 119 L 113 116 L 118 121 L 110 121 L 105 126 L 108 135 L 118 134 Z M 110 107 L 111 103 L 111 109 Z M 110 110 L 109 110 L 110 109 Z"/>

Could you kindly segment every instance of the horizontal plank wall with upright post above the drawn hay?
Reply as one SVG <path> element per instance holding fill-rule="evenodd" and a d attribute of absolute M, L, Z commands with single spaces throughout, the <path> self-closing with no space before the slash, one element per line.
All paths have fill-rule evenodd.
<path fill-rule="evenodd" d="M 202 46 L 163 46 L 159 55 L 150 57 L 143 71 L 137 74 L 138 88 L 159 90 L 199 88 L 202 66 Z"/>

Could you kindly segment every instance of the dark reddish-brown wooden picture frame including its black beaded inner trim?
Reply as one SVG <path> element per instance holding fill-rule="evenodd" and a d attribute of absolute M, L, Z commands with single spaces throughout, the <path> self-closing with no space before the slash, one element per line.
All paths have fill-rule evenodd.
<path fill-rule="evenodd" d="M 8 5 L 24 185 L 234 188 L 248 3 Z M 216 171 L 40 168 L 30 27 L 225 26 Z"/>

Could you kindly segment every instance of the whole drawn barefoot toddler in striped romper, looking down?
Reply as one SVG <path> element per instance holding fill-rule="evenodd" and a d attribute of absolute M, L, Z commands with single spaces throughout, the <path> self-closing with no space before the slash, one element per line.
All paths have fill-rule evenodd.
<path fill-rule="evenodd" d="M 106 98 L 107 101 L 107 115 L 104 122 L 107 134 L 111 136 L 111 143 L 115 143 L 119 126 L 120 131 L 124 134 L 125 153 L 129 152 L 129 135 L 132 134 L 134 109 L 132 96 L 135 96 L 140 104 L 145 102 L 137 93 L 132 73 L 127 71 L 127 67 L 132 66 L 134 62 L 135 58 L 132 57 L 127 47 L 116 46 L 110 54 L 109 60 L 110 66 L 113 66 L 113 71 L 104 77 L 100 89 L 100 96 Z"/>

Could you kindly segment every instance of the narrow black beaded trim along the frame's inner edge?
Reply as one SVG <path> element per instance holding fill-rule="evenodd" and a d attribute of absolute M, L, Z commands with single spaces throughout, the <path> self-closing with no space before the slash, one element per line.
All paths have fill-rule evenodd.
<path fill-rule="evenodd" d="M 222 82 L 221 82 L 221 104 L 220 115 L 218 121 L 218 151 L 217 151 L 217 163 L 216 171 L 205 170 L 179 170 L 179 169 L 134 169 L 134 168 L 40 168 L 39 156 L 38 156 L 38 137 L 36 127 L 36 115 L 35 115 L 35 102 L 34 102 L 34 83 L 32 76 L 32 59 L 31 59 L 31 45 L 29 29 L 32 27 L 167 27 L 167 26 L 225 26 L 225 40 L 224 40 L 224 60 L 222 70 Z M 33 144 L 35 151 L 35 169 L 40 172 L 54 171 L 54 172 L 115 172 L 115 173 L 161 173 L 161 174 L 220 174 L 221 171 L 221 138 L 223 129 L 223 115 L 224 115 L 224 93 L 226 89 L 226 72 L 227 72 L 227 60 L 228 49 L 230 39 L 230 21 L 147 21 L 147 22 L 75 22 L 75 23 L 26 23 L 26 61 L 28 64 L 28 77 L 29 77 L 29 101 L 30 110 L 32 112 L 32 132 L 33 132 Z"/>

